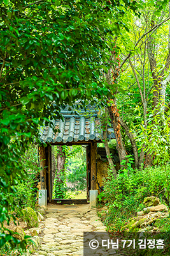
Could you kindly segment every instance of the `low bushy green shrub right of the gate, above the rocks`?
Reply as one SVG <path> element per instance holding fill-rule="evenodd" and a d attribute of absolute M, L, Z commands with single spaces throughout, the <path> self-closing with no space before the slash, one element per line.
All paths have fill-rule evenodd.
<path fill-rule="evenodd" d="M 167 165 L 167 173 L 161 167 L 148 167 L 145 170 L 120 171 L 117 179 L 108 171 L 108 177 L 104 180 L 104 191 L 99 195 L 99 200 L 107 200 L 108 211 L 104 214 L 104 223 L 110 230 L 121 229 L 125 222 L 141 211 L 143 199 L 146 196 L 158 196 L 160 201 L 167 202 L 166 179 L 170 168 Z"/>

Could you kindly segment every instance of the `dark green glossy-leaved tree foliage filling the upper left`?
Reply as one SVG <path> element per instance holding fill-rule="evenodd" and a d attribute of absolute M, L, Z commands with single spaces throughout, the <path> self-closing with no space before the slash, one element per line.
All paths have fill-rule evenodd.
<path fill-rule="evenodd" d="M 91 1 L 1 1 L 2 225 L 10 221 L 8 209 L 14 204 L 14 196 L 6 198 L 6 193 L 15 195 L 18 177 L 25 178 L 20 156 L 32 135 L 38 137 L 38 125 L 59 113 L 64 102 L 108 93 L 100 76 L 111 12 L 105 7 Z M 0 236 L 3 246 L 7 239 L 3 229 Z"/>

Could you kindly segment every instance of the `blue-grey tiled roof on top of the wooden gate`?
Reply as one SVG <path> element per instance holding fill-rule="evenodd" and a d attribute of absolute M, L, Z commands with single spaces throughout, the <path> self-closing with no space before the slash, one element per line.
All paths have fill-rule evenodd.
<path fill-rule="evenodd" d="M 84 109 L 79 113 L 73 113 L 68 111 L 69 106 L 66 109 L 61 110 L 62 120 L 53 120 L 55 129 L 58 132 L 53 132 L 53 129 L 48 125 L 41 127 L 40 140 L 43 143 L 67 143 L 77 141 L 99 141 L 100 138 L 100 120 L 97 117 L 97 111 L 95 109 Z M 102 135 L 101 135 L 102 136 Z M 108 139 L 115 138 L 112 127 L 108 127 Z"/>

